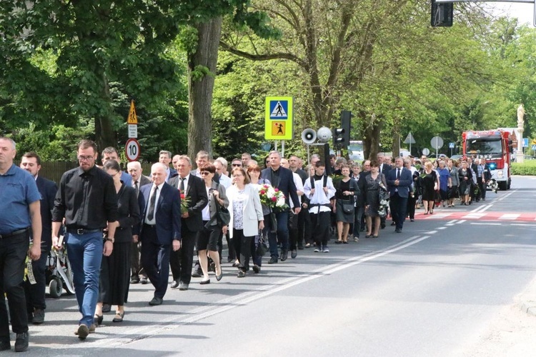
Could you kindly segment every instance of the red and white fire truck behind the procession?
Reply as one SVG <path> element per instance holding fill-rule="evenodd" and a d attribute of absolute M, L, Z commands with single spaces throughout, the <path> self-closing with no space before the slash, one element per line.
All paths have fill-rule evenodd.
<path fill-rule="evenodd" d="M 502 191 L 510 189 L 510 155 L 512 140 L 510 132 L 500 129 L 486 131 L 464 131 L 462 133 L 462 149 L 464 156 L 486 159 L 492 178 L 488 188 L 498 186 Z M 496 188 L 495 188 L 496 190 Z"/>

